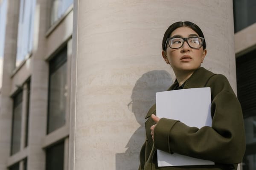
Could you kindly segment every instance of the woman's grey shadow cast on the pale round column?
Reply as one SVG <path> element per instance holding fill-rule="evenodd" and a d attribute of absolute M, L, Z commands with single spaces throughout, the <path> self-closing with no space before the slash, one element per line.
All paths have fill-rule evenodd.
<path fill-rule="evenodd" d="M 145 116 L 155 103 L 155 93 L 166 91 L 173 81 L 167 71 L 149 71 L 135 83 L 128 108 L 134 113 L 140 127 L 134 132 L 125 146 L 125 153 L 116 153 L 116 170 L 137 170 L 140 149 L 145 142 Z"/>

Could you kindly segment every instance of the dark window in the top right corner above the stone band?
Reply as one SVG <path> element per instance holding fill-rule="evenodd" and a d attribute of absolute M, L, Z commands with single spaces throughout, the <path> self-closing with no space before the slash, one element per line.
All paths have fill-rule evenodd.
<path fill-rule="evenodd" d="M 256 23 L 256 0 L 233 0 L 235 32 Z"/>

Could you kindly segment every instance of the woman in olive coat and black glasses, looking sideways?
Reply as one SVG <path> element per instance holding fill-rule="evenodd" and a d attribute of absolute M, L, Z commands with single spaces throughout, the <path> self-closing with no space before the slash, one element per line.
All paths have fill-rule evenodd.
<path fill-rule="evenodd" d="M 139 170 L 236 170 L 245 151 L 241 106 L 226 77 L 201 68 L 207 54 L 201 29 L 188 21 L 174 23 L 164 34 L 162 48 L 163 59 L 176 76 L 168 90 L 211 88 L 212 127 L 198 129 L 179 120 L 159 119 L 153 105 L 145 117 L 146 141 L 140 151 Z M 158 167 L 157 149 L 215 164 Z"/>

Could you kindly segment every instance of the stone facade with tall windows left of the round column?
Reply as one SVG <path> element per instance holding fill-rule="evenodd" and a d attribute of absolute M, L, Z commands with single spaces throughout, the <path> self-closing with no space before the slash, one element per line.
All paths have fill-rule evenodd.
<path fill-rule="evenodd" d="M 3 18 L 0 169 L 68 170 L 73 0 L 2 0 Z"/>

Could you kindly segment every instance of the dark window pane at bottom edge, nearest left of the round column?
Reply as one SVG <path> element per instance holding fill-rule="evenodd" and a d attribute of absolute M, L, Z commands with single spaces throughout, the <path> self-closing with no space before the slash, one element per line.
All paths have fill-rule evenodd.
<path fill-rule="evenodd" d="M 46 150 L 46 170 L 63 170 L 64 142 L 55 144 Z"/>

